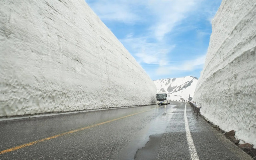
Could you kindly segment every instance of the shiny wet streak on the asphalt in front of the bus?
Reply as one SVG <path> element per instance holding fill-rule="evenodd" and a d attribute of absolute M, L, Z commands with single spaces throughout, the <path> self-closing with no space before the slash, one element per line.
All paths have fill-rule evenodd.
<path fill-rule="evenodd" d="M 161 135 L 169 124 L 172 115 L 176 111 L 174 108 L 176 105 L 165 106 L 163 110 L 157 110 L 156 112 L 162 112 L 162 114 L 148 123 L 142 130 L 140 130 L 134 139 L 124 147 L 121 152 L 116 156 L 116 160 L 134 160 L 136 152 L 146 146 L 147 142 L 150 140 L 151 135 Z M 159 106 L 161 107 L 161 106 Z"/>

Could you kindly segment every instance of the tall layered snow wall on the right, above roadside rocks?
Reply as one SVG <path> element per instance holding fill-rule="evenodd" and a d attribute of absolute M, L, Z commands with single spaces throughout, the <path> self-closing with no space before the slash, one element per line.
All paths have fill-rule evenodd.
<path fill-rule="evenodd" d="M 223 0 L 194 100 L 208 120 L 256 147 L 256 1 Z"/>

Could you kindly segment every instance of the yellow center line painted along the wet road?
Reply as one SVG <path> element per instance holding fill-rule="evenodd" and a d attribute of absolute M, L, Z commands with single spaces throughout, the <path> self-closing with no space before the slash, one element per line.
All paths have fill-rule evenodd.
<path fill-rule="evenodd" d="M 152 109 L 155 109 L 155 108 L 152 108 Z M 150 109 L 150 110 L 152 110 Z M 142 112 L 147 112 L 149 110 L 145 110 L 145 111 L 142 111 Z M 101 122 L 101 123 L 98 123 L 98 124 L 93 124 L 91 126 L 86 126 L 86 127 L 83 127 L 83 128 L 79 128 L 79 129 L 76 129 L 76 130 L 71 130 L 69 132 L 65 132 L 65 133 L 62 133 L 62 134 L 57 134 L 55 136 L 51 136 L 51 137 L 48 137 L 48 138 L 44 138 L 44 139 L 41 139 L 41 140 L 36 140 L 34 142 L 29 142 L 29 143 L 26 143 L 26 144 L 22 144 L 20 146 L 16 146 L 16 147 L 13 147 L 13 148 L 9 148 L 9 149 L 6 149 L 6 150 L 2 150 L 0 151 L 0 154 L 4 154 L 4 153 L 7 153 L 7 152 L 12 152 L 14 150 L 18 150 L 20 148 L 24 148 L 24 147 L 27 147 L 27 146 L 31 146 L 33 144 L 37 144 L 39 142 L 44 142 L 46 140 L 50 140 L 50 139 L 53 139 L 53 138 L 57 138 L 57 137 L 60 137 L 60 136 L 64 136 L 66 134 L 70 134 L 70 133 L 74 133 L 74 132 L 78 132 L 78 131 L 81 131 L 81 130 L 85 130 L 85 129 L 88 129 L 88 128 L 92 128 L 92 127 L 95 127 L 95 126 L 99 126 L 99 125 L 102 125 L 102 124 L 106 124 L 106 123 L 109 123 L 109 122 L 113 122 L 115 120 L 120 120 L 120 119 L 123 119 L 123 118 L 126 118 L 126 117 L 130 117 L 130 116 L 134 116 L 136 114 L 139 114 L 139 113 L 142 113 L 142 112 L 138 112 L 138 113 L 134 113 L 134 114 L 130 114 L 128 116 L 123 116 L 123 117 L 120 117 L 120 118 L 116 118 L 116 119 L 113 119 L 113 120 L 108 120 L 106 122 Z"/>

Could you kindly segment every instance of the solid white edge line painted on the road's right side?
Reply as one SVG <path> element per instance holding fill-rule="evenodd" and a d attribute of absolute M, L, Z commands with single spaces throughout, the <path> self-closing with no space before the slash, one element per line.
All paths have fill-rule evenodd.
<path fill-rule="evenodd" d="M 199 160 L 199 157 L 197 155 L 196 152 L 196 148 L 195 148 L 195 144 L 193 142 L 190 130 L 189 130 L 189 126 L 188 126 L 188 118 L 186 115 L 186 108 L 187 108 L 187 103 L 185 103 L 185 110 L 184 110 L 184 118 L 185 118 L 185 129 L 186 129 L 186 136 L 187 136 L 187 140 L 188 140 L 188 148 L 190 151 L 190 157 L 192 160 Z"/>

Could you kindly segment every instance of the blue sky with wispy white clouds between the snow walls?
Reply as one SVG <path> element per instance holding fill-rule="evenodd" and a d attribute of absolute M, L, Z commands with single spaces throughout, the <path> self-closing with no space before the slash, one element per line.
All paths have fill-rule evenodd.
<path fill-rule="evenodd" d="M 221 0 L 86 0 L 152 80 L 199 78 Z"/>

